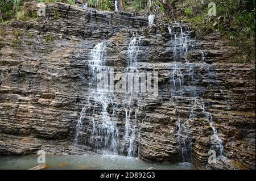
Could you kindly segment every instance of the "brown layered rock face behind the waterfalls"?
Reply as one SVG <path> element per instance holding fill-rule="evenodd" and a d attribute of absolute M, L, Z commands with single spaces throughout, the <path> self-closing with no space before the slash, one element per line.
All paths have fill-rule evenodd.
<path fill-rule="evenodd" d="M 100 119 L 98 107 L 94 115 L 82 115 L 85 136 L 74 144 L 92 92 L 90 52 L 106 41 L 106 66 L 125 72 L 137 35 L 137 68 L 154 70 L 159 79 L 157 97 L 140 95 L 130 104 L 138 107 L 129 118 L 136 121 L 133 155 L 200 169 L 255 169 L 255 68 L 236 63 L 238 49 L 218 33 L 198 40 L 187 24 L 147 27 L 147 19 L 125 12 L 63 3 L 39 7 L 46 14 L 37 19 L 0 26 L 1 154 L 86 153 L 92 147 L 89 120 Z M 117 114 L 110 122 L 118 130 L 117 152 L 127 155 L 123 100 L 115 95 Z M 106 139 L 103 134 L 97 139 Z M 217 152 L 216 163 L 208 161 L 210 150 Z"/>

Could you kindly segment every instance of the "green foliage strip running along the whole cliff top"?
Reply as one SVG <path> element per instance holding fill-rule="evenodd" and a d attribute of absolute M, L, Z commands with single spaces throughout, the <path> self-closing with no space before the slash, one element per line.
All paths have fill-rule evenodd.
<path fill-rule="evenodd" d="M 20 6 L 28 0 L 0 1 L 0 23 L 4 20 L 28 20 L 36 14 Z M 75 5 L 75 0 L 34 0 L 37 2 L 64 2 Z M 78 1 L 78 0 L 77 0 Z M 89 7 L 113 11 L 113 0 L 79 0 Z M 255 62 L 255 0 L 216 0 L 216 15 L 209 16 L 212 0 L 118 0 L 124 11 L 144 11 L 156 14 L 156 23 L 186 20 L 191 23 L 197 36 L 220 32 L 230 45 L 240 47 L 246 61 Z"/>

